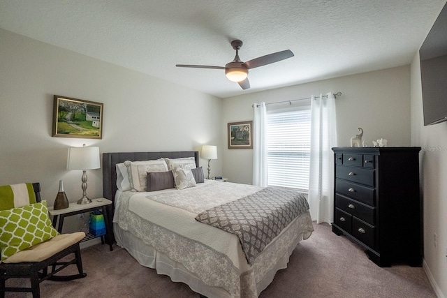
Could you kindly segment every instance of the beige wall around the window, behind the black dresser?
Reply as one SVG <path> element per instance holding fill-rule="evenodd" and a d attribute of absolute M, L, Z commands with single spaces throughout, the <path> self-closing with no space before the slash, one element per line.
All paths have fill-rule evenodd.
<path fill-rule="evenodd" d="M 339 147 L 350 146 L 358 127 L 363 128 L 363 140 L 367 140 L 369 146 L 372 140 L 381 137 L 388 140 L 388 146 L 410 145 L 410 67 L 401 66 L 225 98 L 221 128 L 223 176 L 230 181 L 251 184 L 253 167 L 253 150 L 227 149 L 226 123 L 252 120 L 253 103 L 309 98 L 312 94 L 330 91 L 343 94 L 336 100 Z M 288 103 L 268 108 L 286 106 Z"/>

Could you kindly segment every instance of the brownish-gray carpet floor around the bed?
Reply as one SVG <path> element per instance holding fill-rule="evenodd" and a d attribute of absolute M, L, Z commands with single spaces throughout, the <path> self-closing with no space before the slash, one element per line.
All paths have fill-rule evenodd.
<path fill-rule="evenodd" d="M 314 223 L 314 228 L 312 236 L 295 248 L 288 268 L 278 271 L 259 297 L 436 297 L 423 268 L 378 267 L 360 246 L 333 234 L 330 226 Z M 41 297 L 199 297 L 184 283 L 142 267 L 116 245 L 113 251 L 101 244 L 83 249 L 82 264 L 86 278 L 44 281 Z M 28 282 L 15 279 L 8 283 Z M 31 295 L 8 292 L 6 297 Z"/>

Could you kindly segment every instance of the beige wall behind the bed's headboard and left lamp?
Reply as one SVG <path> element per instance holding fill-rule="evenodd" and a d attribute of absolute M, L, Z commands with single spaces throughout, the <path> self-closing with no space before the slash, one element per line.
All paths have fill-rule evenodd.
<path fill-rule="evenodd" d="M 66 170 L 68 147 L 85 143 L 101 152 L 221 148 L 216 134 L 220 98 L 1 29 L 0 67 L 0 185 L 39 181 L 50 206 L 59 179 L 68 200 L 82 196 L 82 171 Z M 54 94 L 103 103 L 103 139 L 52 137 Z M 200 163 L 206 169 L 206 161 Z M 220 173 L 221 158 L 212 161 L 212 174 Z M 102 170 L 89 170 L 87 176 L 87 195 L 101 197 Z"/>

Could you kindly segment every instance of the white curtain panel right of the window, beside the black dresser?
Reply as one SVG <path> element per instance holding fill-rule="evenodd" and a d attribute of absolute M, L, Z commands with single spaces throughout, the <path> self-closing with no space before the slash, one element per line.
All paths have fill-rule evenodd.
<path fill-rule="evenodd" d="M 331 224 L 334 219 L 334 154 L 337 147 L 335 98 L 312 96 L 311 151 L 309 169 L 309 206 L 312 220 Z"/>

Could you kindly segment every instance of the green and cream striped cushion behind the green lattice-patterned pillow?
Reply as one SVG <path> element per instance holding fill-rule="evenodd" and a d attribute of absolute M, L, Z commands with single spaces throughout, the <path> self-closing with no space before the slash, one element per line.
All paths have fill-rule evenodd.
<path fill-rule="evenodd" d="M 33 184 L 11 184 L 0 186 L 0 210 L 22 207 L 36 202 Z"/>

